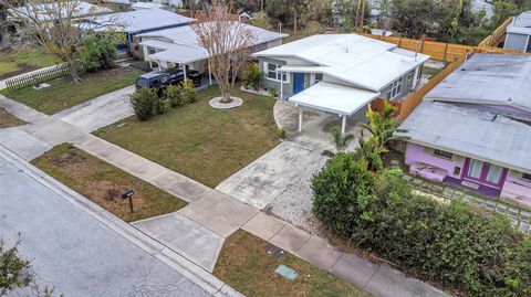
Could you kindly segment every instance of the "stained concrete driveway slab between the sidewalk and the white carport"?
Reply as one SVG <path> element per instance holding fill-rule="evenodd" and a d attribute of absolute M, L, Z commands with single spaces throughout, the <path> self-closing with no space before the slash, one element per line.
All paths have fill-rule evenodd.
<path fill-rule="evenodd" d="M 324 158 L 322 151 L 304 142 L 283 141 L 222 181 L 216 190 L 263 209 L 290 183 L 313 171 Z"/>

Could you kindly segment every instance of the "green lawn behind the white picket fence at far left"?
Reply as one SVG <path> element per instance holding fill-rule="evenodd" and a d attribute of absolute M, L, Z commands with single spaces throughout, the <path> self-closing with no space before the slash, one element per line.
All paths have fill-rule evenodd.
<path fill-rule="evenodd" d="M 53 65 L 53 61 L 35 49 L 13 50 L 0 54 L 0 79 Z"/>

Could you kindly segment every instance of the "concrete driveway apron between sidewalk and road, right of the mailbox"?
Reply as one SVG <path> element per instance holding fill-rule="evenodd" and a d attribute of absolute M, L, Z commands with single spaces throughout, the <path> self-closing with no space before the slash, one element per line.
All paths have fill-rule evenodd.
<path fill-rule="evenodd" d="M 214 271 L 225 241 L 177 212 L 133 222 L 132 225 L 208 272 Z"/>

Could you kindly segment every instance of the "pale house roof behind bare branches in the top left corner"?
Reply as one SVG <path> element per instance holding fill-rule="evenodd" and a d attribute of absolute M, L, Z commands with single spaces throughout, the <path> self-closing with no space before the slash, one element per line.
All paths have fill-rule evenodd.
<path fill-rule="evenodd" d="M 52 17 L 56 15 L 55 10 L 61 10 L 62 18 L 82 18 L 85 15 L 104 14 L 113 12 L 111 9 L 94 6 L 83 1 L 65 1 L 41 3 L 35 6 L 19 7 L 10 10 L 12 18 L 37 18 L 40 21 L 52 21 Z M 69 15 L 72 13 L 72 15 Z"/>

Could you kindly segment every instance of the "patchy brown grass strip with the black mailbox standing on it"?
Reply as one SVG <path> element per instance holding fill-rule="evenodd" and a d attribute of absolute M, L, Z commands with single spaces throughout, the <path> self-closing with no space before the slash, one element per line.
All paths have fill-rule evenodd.
<path fill-rule="evenodd" d="M 31 163 L 126 222 L 174 212 L 186 205 L 183 200 L 70 144 L 52 148 Z M 134 213 L 129 213 L 128 201 L 121 198 L 125 189 L 135 191 Z"/>

